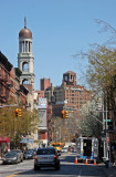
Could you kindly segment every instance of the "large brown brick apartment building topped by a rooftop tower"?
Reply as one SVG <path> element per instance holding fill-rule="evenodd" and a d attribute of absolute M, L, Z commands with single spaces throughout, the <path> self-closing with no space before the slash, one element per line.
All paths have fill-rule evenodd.
<path fill-rule="evenodd" d="M 91 102 L 91 91 L 77 85 L 76 73 L 72 71 L 63 74 L 62 85 L 54 87 L 53 95 L 55 97 L 53 114 L 56 116 L 61 116 L 62 110 L 80 116 L 82 106 Z"/>

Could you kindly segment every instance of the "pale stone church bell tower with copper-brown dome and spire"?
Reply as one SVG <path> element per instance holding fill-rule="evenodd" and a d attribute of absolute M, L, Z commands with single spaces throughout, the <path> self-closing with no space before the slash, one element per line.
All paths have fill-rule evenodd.
<path fill-rule="evenodd" d="M 22 72 L 20 84 L 29 90 L 28 106 L 33 108 L 34 56 L 32 53 L 32 32 L 27 28 L 25 18 L 24 28 L 19 32 L 18 67 Z"/>

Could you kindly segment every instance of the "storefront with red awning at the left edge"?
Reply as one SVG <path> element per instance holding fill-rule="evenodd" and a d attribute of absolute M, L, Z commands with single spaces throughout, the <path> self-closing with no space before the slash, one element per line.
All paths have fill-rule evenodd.
<path fill-rule="evenodd" d="M 0 157 L 10 149 L 10 139 L 8 136 L 0 137 Z"/>

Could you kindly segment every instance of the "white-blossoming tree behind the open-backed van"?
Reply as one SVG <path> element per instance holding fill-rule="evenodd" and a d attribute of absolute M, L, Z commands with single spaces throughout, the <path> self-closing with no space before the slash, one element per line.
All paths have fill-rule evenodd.
<path fill-rule="evenodd" d="M 82 107 L 82 118 L 78 122 L 80 134 L 83 136 L 99 137 L 102 132 L 102 115 L 97 111 L 95 101 L 88 102 Z"/>

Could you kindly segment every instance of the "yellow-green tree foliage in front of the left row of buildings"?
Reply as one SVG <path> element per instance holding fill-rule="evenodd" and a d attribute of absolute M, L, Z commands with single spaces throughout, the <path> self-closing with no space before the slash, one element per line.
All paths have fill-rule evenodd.
<path fill-rule="evenodd" d="M 0 108 L 0 136 L 9 136 L 14 145 L 19 143 L 22 135 L 34 132 L 38 128 L 38 111 L 22 111 L 21 117 L 15 117 L 15 107 Z"/>

